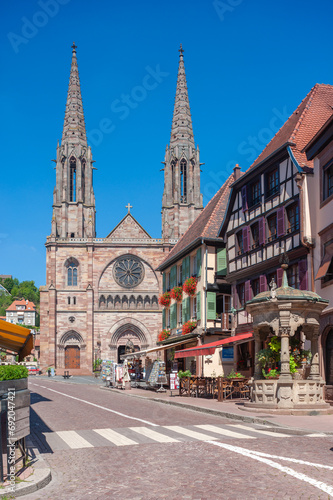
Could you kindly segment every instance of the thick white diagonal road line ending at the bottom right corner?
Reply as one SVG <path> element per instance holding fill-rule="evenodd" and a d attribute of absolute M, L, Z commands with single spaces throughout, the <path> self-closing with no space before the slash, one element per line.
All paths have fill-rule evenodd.
<path fill-rule="evenodd" d="M 323 483 L 322 481 L 317 481 L 316 479 L 313 479 L 312 477 L 309 477 L 306 474 L 296 472 L 293 469 L 290 469 L 289 467 L 285 467 L 284 465 L 277 464 L 276 462 L 273 462 L 272 460 L 269 460 L 268 458 L 254 455 L 251 450 L 245 450 L 244 448 L 240 448 L 238 446 L 232 446 L 230 444 L 216 443 L 215 441 L 207 441 L 207 442 L 209 444 L 214 445 L 214 446 L 219 446 L 220 448 L 224 448 L 226 450 L 233 451 L 235 453 L 239 453 L 245 457 L 252 458 L 254 460 L 258 460 L 258 462 L 262 462 L 266 465 L 269 465 L 270 467 L 273 467 L 274 469 L 278 469 L 281 472 L 288 474 L 289 476 L 292 476 L 296 479 L 299 479 L 300 481 L 304 481 L 308 484 L 311 484 L 311 486 L 314 486 L 315 488 L 318 488 L 321 491 L 324 491 L 328 495 L 333 496 L 333 487 L 332 486 L 329 486 L 328 484 Z"/>

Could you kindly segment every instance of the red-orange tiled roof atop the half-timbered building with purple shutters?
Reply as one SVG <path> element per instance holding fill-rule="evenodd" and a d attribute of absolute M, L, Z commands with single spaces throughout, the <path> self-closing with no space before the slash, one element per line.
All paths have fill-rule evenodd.
<path fill-rule="evenodd" d="M 268 158 L 287 142 L 294 143 L 291 150 L 300 167 L 313 167 L 303 149 L 330 118 L 333 111 L 333 86 L 316 83 L 296 111 L 282 125 L 250 169 Z"/>

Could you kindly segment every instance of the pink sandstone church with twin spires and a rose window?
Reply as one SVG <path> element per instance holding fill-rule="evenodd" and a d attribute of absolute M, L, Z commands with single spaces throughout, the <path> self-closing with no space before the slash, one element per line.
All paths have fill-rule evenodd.
<path fill-rule="evenodd" d="M 202 210 L 183 50 L 170 145 L 164 161 L 162 238 L 130 212 L 104 238 L 95 231 L 94 162 L 87 144 L 77 65 L 72 63 L 61 144 L 57 147 L 46 285 L 41 287 L 41 368 L 91 373 L 96 358 L 118 361 L 130 341 L 153 347 L 162 328 L 161 277 L 155 271 Z M 149 205 L 147 205 L 147 210 Z"/>

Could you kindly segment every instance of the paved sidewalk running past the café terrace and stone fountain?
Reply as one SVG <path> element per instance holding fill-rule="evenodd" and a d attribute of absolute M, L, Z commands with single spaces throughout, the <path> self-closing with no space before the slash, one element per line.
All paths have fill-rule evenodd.
<path fill-rule="evenodd" d="M 288 427 L 293 430 L 295 434 L 297 431 L 311 432 L 311 433 L 325 433 L 333 435 L 333 407 L 330 415 L 318 415 L 313 412 L 313 415 L 278 415 L 257 412 L 245 411 L 244 403 L 239 400 L 218 402 L 216 399 L 194 398 L 194 397 L 180 397 L 175 395 L 178 391 L 173 391 L 173 396 L 170 391 L 167 392 L 154 392 L 152 390 L 145 390 L 139 388 L 132 388 L 131 390 L 122 391 L 118 389 L 107 388 L 100 386 L 104 390 L 113 391 L 124 396 L 129 397 L 142 397 L 153 401 L 181 406 L 194 411 L 202 411 L 204 413 L 218 414 L 223 417 L 242 420 L 243 422 L 252 422 L 263 425 L 276 427 L 276 431 L 280 427 Z"/>

